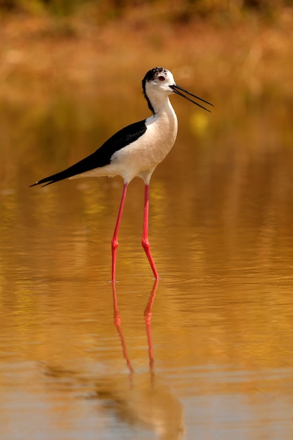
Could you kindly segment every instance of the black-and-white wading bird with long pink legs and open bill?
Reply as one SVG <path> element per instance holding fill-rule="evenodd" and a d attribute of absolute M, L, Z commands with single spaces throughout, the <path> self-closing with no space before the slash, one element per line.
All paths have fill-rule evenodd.
<path fill-rule="evenodd" d="M 143 94 L 152 111 L 152 116 L 135 122 L 117 131 L 94 153 L 63 171 L 45 177 L 31 186 L 45 183 L 44 186 L 63 179 L 86 176 L 122 176 L 124 187 L 117 222 L 112 237 L 112 281 L 115 281 L 118 231 L 122 218 L 126 190 L 134 177 L 141 177 L 145 183 L 145 203 L 143 212 L 142 245 L 148 257 L 152 272 L 159 279 L 148 240 L 148 207 L 150 177 L 157 165 L 164 160 L 174 145 L 177 135 L 177 117 L 169 101 L 169 95 L 177 93 L 183 98 L 207 110 L 188 96 L 212 105 L 178 86 L 169 70 L 154 67 L 143 78 Z M 186 93 L 188 96 L 185 96 Z M 209 110 L 207 110 L 209 111 Z"/>

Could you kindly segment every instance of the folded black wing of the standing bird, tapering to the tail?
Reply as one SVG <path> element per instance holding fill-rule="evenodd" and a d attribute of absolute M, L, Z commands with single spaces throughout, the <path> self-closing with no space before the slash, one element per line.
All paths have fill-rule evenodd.
<path fill-rule="evenodd" d="M 105 167 L 105 165 L 110 164 L 111 157 L 116 151 L 121 150 L 121 148 L 126 147 L 129 143 L 136 141 L 143 136 L 145 131 L 145 119 L 130 124 L 127 127 L 124 127 L 124 129 L 117 131 L 117 133 L 111 136 L 108 141 L 105 141 L 105 143 L 103 143 L 103 145 L 91 155 L 84 157 L 84 159 L 71 167 L 64 169 L 59 173 L 52 174 L 52 176 L 45 177 L 30 186 L 41 185 L 42 183 L 45 183 L 44 186 L 50 185 L 51 183 L 67 179 L 68 177 L 87 172 L 90 169 Z"/>

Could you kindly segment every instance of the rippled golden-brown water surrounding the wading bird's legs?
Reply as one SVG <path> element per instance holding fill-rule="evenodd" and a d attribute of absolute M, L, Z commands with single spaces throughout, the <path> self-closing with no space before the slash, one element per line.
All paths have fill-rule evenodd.
<path fill-rule="evenodd" d="M 37 141 L 8 160 L 1 439 L 292 439 L 292 134 L 268 115 L 235 128 L 188 118 L 150 188 L 158 284 L 142 181 L 129 186 L 113 291 L 122 181 L 28 188 L 67 166 L 54 131 L 55 162 Z"/>

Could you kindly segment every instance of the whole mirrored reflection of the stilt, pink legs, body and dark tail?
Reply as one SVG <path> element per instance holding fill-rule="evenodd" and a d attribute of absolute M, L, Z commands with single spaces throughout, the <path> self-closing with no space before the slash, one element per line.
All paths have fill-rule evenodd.
<path fill-rule="evenodd" d="M 171 389 L 155 374 L 155 360 L 152 344 L 152 306 L 155 301 L 158 280 L 155 280 L 148 304 L 145 307 L 145 331 L 148 340 L 149 368 L 145 373 L 135 373 L 126 347 L 122 331 L 122 318 L 119 313 L 116 285 L 112 283 L 114 323 L 122 344 L 122 353 L 126 361 L 128 374 L 109 371 L 107 373 L 78 373 L 71 369 L 46 366 L 45 374 L 53 378 L 60 390 L 60 380 L 65 389 L 72 384 L 79 389 L 87 389 L 86 399 L 98 402 L 99 418 L 115 417 L 118 424 L 131 429 L 137 425 L 141 429 L 155 432 L 159 440 L 183 440 L 185 428 L 183 408 Z M 93 367 L 94 369 L 94 367 Z M 65 391 L 64 388 L 62 388 Z M 63 396 L 64 399 L 64 396 Z"/>

